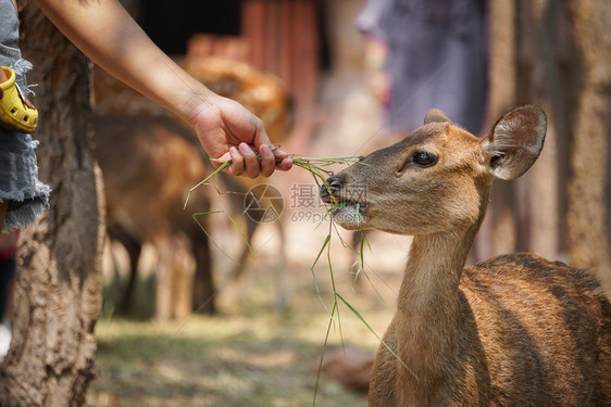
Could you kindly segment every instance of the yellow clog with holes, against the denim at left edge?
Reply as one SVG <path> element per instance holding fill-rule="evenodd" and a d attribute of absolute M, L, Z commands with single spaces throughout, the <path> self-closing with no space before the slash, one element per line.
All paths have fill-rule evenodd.
<path fill-rule="evenodd" d="M 38 124 L 38 111 L 23 101 L 15 85 L 15 72 L 2 66 L 9 78 L 0 84 L 0 127 L 18 132 L 33 132 Z"/>

